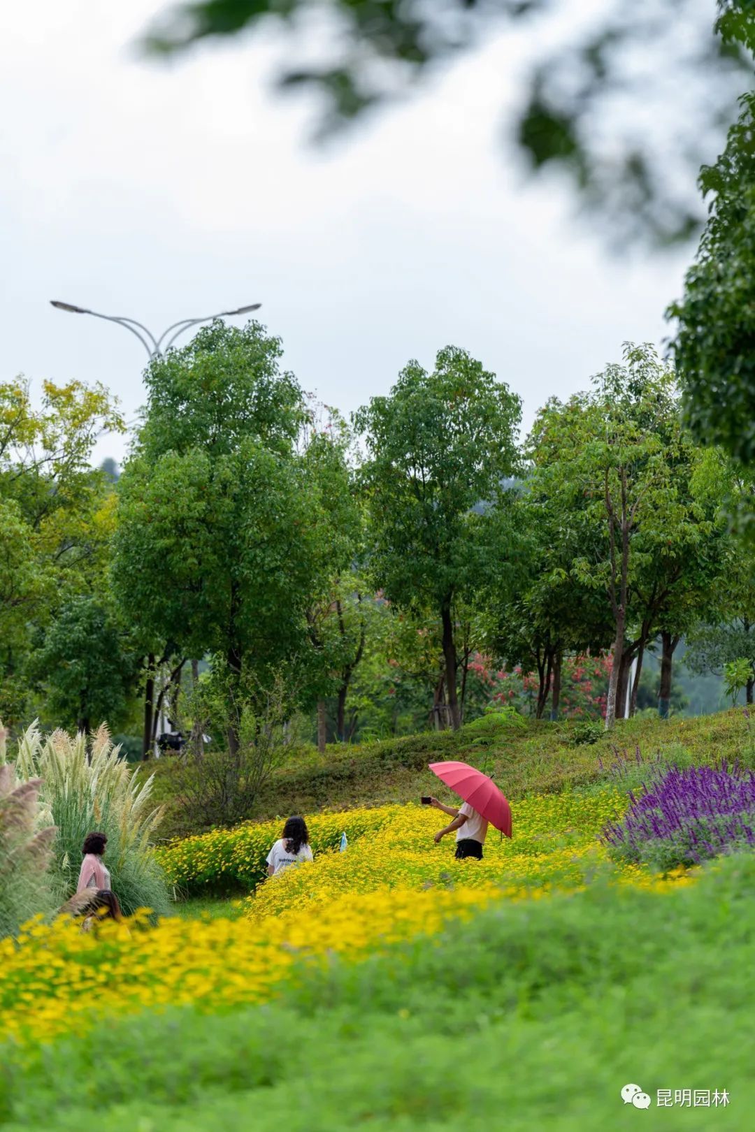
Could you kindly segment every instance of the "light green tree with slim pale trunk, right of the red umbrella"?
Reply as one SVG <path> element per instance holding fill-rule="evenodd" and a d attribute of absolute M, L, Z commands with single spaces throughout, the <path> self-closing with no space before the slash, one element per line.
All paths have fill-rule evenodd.
<path fill-rule="evenodd" d="M 667 552 L 684 560 L 685 523 L 689 518 L 694 526 L 702 516 L 694 508 L 689 514 L 675 478 L 679 456 L 670 443 L 677 419 L 674 374 L 652 346 L 627 345 L 625 365 L 609 366 L 593 386 L 591 394 L 565 405 L 552 401 L 541 412 L 534 463 L 540 490 L 550 492 L 584 532 L 569 573 L 606 593 L 610 604 L 614 666 L 606 724 L 611 727 L 623 713 L 628 663 L 650 638 L 660 611 L 660 604 L 643 609 L 638 590 Z M 677 435 L 676 445 L 683 443 Z M 602 540 L 597 541 L 601 531 Z M 642 621 L 642 628 L 630 641 L 633 619 Z"/>

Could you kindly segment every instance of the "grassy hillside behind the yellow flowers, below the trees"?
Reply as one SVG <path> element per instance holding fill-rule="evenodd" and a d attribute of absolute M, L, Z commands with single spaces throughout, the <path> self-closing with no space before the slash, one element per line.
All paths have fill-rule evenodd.
<path fill-rule="evenodd" d="M 589 783 L 599 777 L 600 761 L 610 762 L 616 752 L 634 756 L 637 747 L 645 758 L 658 754 L 694 762 L 755 758 L 755 737 L 740 709 L 696 718 L 619 720 L 610 735 L 589 745 L 575 745 L 580 726 L 527 720 L 516 727 L 487 717 L 457 734 L 428 731 L 361 746 L 333 745 L 324 755 L 303 748 L 271 778 L 248 816 L 417 800 L 440 789 L 427 764 L 444 758 L 482 767 L 512 800 Z M 163 835 L 194 832 L 175 801 L 175 761 L 162 758 L 148 769 L 156 771 L 156 797 L 168 806 Z"/>

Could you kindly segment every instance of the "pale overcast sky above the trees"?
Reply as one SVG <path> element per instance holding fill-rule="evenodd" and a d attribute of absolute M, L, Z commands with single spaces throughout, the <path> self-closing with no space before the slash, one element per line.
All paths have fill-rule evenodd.
<path fill-rule="evenodd" d="M 526 180 L 500 144 L 521 38 L 323 151 L 311 106 L 269 92 L 273 44 L 140 58 L 161 8 L 3 11 L 0 380 L 98 379 L 135 415 L 143 348 L 53 298 L 157 332 L 263 302 L 286 368 L 346 413 L 453 343 L 521 394 L 525 427 L 623 341 L 662 341 L 690 249 L 612 258 L 558 183 Z M 96 455 L 123 452 L 110 437 Z"/>

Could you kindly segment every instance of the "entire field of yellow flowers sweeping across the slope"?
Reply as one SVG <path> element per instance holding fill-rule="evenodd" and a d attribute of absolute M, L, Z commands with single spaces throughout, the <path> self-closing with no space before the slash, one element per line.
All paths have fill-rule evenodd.
<path fill-rule="evenodd" d="M 32 923 L 19 940 L 0 942 L 0 1037 L 46 1040 L 109 1013 L 169 1004 L 215 1011 L 260 1002 L 291 978 L 298 960 L 318 962 L 332 953 L 358 960 L 431 935 L 492 900 L 581 889 L 595 869 L 620 884 L 666 891 L 678 880 L 607 860 L 598 833 L 623 805 L 612 791 L 520 801 L 514 838 L 500 842 L 491 831 L 482 861 L 456 861 L 453 838 L 435 844 L 432 833 L 444 822 L 437 811 L 410 805 L 320 815 L 311 822 L 315 844 L 316 838 L 337 842 L 345 829 L 348 850 L 321 850 L 312 864 L 259 885 L 240 919 L 172 917 L 151 927 L 141 915 L 91 934 L 70 919 Z M 218 867 L 214 846 L 221 866 L 234 861 L 237 872 L 252 872 L 278 835 L 280 823 L 260 823 L 190 838 L 163 852 L 174 875 Z"/>

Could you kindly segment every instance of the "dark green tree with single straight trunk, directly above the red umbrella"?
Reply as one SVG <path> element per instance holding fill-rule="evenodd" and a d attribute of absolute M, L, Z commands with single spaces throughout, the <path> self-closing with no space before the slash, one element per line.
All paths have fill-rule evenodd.
<path fill-rule="evenodd" d="M 506 567 L 499 516 L 511 496 L 520 417 L 520 398 L 455 346 L 439 351 L 431 374 L 410 362 L 387 397 L 372 397 L 355 414 L 368 454 L 371 569 L 396 606 L 429 607 L 439 618 L 454 728 L 454 610 Z"/>

